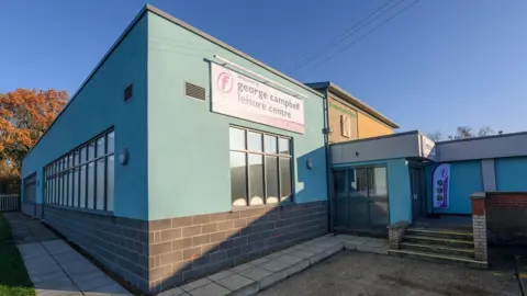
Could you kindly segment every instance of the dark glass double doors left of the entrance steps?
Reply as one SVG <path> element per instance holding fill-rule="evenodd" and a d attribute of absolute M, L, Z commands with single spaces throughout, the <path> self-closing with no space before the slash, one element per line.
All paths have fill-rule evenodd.
<path fill-rule="evenodd" d="M 352 230 L 390 223 L 385 167 L 339 169 L 333 175 L 335 228 Z"/>

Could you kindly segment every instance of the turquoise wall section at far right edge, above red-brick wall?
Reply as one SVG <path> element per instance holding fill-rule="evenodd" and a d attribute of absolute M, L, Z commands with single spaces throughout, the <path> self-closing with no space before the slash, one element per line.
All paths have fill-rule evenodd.
<path fill-rule="evenodd" d="M 496 158 L 497 191 L 527 191 L 527 157 Z"/>

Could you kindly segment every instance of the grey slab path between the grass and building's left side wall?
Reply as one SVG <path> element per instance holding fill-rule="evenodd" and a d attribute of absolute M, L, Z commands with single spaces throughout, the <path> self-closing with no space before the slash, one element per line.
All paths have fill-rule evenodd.
<path fill-rule="evenodd" d="M 130 295 L 40 220 L 21 213 L 3 214 L 37 295 Z M 30 242 L 30 243 L 27 243 Z M 89 292 L 87 292 L 89 291 Z"/>

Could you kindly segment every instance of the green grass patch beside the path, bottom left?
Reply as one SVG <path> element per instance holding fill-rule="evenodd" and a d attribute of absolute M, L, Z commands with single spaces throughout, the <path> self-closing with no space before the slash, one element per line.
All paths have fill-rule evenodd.
<path fill-rule="evenodd" d="M 8 221 L 0 215 L 0 296 L 35 295 L 24 261 L 12 241 Z"/>

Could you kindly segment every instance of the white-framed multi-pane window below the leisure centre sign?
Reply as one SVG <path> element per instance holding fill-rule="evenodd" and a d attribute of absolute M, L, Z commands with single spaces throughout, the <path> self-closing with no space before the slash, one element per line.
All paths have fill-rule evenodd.
<path fill-rule="evenodd" d="M 231 127 L 233 206 L 278 204 L 292 196 L 291 139 Z"/>

